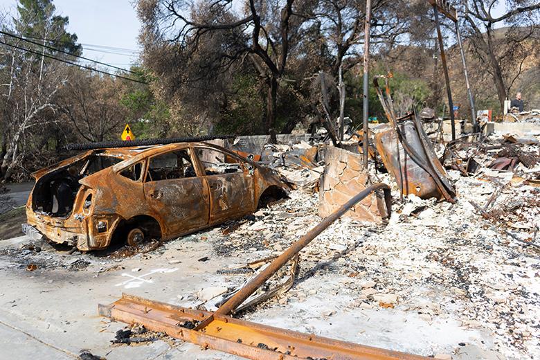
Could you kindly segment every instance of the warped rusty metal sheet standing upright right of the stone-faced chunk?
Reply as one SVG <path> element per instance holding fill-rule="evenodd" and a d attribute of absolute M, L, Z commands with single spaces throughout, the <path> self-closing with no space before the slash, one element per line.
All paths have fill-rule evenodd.
<path fill-rule="evenodd" d="M 386 80 L 385 95 L 377 78 Z M 414 194 L 422 199 L 436 197 L 454 202 L 456 192 L 435 155 L 416 114 L 396 118 L 386 76 L 375 77 L 375 89 L 386 117 L 392 126 L 375 136 L 377 151 L 386 169 L 393 174 L 403 195 Z"/>

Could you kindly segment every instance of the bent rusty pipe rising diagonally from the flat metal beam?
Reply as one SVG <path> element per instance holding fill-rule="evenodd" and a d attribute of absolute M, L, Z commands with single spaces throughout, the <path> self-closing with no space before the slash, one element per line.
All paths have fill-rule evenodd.
<path fill-rule="evenodd" d="M 232 298 L 230 298 L 226 303 L 224 303 L 217 311 L 214 313 L 215 315 L 228 315 L 231 314 L 237 307 L 242 305 L 244 301 L 251 296 L 259 287 L 261 287 L 264 282 L 266 282 L 271 276 L 273 276 L 276 271 L 281 269 L 283 265 L 287 264 L 289 260 L 294 258 L 302 249 L 307 246 L 312 240 L 314 240 L 317 235 L 322 233 L 328 226 L 330 226 L 333 222 L 336 221 L 336 219 L 339 219 L 341 215 L 346 213 L 352 206 L 357 204 L 359 201 L 370 195 L 372 192 L 375 192 L 377 190 L 383 190 L 384 191 L 384 200 L 386 202 L 386 209 L 387 209 L 387 215 L 390 215 L 391 208 L 392 208 L 392 197 L 390 194 L 390 188 L 386 183 L 376 183 L 375 185 L 370 186 L 369 188 L 365 188 L 361 192 L 359 192 L 356 196 L 352 197 L 349 201 L 347 201 L 345 204 L 340 206 L 337 210 L 334 211 L 334 213 L 328 215 L 323 219 L 322 222 L 317 224 L 312 230 L 310 230 L 307 234 L 305 234 L 303 237 L 300 237 L 294 244 L 292 244 L 289 249 L 287 249 L 284 253 L 278 256 L 276 260 L 273 260 L 269 266 L 261 271 L 255 278 L 251 279 L 250 282 L 246 284 L 246 286 L 242 287 L 240 291 L 238 291 Z M 214 320 L 213 315 L 209 318 L 206 318 L 203 322 L 199 323 L 197 327 L 195 327 L 195 330 L 200 330 L 203 327 L 206 327 L 208 324 L 210 324 Z"/>

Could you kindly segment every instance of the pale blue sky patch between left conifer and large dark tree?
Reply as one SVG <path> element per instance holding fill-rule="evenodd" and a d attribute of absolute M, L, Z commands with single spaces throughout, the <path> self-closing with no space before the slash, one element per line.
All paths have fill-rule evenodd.
<path fill-rule="evenodd" d="M 137 42 L 139 21 L 132 0 L 53 0 L 57 12 L 69 17 L 70 33 L 76 33 L 81 44 L 111 46 L 131 51 L 84 46 L 84 56 L 129 69 L 140 50 Z M 0 10 L 12 12 L 16 0 L 0 0 Z M 103 51 L 109 51 L 104 53 Z M 114 53 L 117 54 L 114 54 Z M 119 55 L 121 54 L 121 55 Z"/>

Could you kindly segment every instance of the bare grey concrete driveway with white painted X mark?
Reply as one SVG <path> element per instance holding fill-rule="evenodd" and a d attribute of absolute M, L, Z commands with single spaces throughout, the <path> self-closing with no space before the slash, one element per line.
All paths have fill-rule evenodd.
<path fill-rule="evenodd" d="M 21 242 L 24 237 L 8 240 L 15 249 Z M 189 356 L 190 359 L 221 359 L 221 353 L 210 350 L 199 357 L 201 351 L 195 345 L 170 352 L 181 345 L 181 341 L 155 341 L 137 346 L 111 344 L 116 331 L 125 324 L 98 316 L 98 303 L 112 303 L 122 292 L 127 292 L 181 305 L 179 296 L 195 294 L 208 284 L 208 274 L 215 274 L 217 269 L 224 267 L 224 261 L 197 261 L 211 252 L 208 242 L 168 246 L 169 249 L 163 250 L 170 254 L 164 257 L 160 252 L 112 261 L 100 261 L 93 255 L 74 256 L 75 260 L 87 258 L 91 261 L 84 271 L 39 267 L 35 271 L 26 271 L 20 264 L 1 258 L 1 339 L 4 344 L 31 341 L 27 341 L 28 346 L 0 345 L 0 358 L 33 359 L 39 353 L 42 359 L 73 359 L 81 350 L 89 350 L 108 360 L 186 359 L 186 354 L 195 354 Z M 169 263 L 173 255 L 180 261 L 178 264 Z M 104 271 L 119 264 L 118 270 Z M 134 272 L 132 269 L 141 270 Z M 184 303 L 192 305 L 189 301 Z"/>

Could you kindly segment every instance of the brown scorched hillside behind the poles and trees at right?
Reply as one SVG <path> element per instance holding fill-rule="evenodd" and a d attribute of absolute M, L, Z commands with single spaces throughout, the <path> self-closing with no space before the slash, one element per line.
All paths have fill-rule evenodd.
<path fill-rule="evenodd" d="M 505 65 L 503 66 L 505 82 L 510 84 L 519 71 L 519 65 L 522 59 L 520 56 L 522 53 L 504 53 L 505 48 L 507 48 L 505 39 L 507 31 L 508 28 L 497 29 L 495 31 L 495 38 L 498 45 L 500 45 L 498 46 L 500 51 L 497 56 L 503 56 L 505 58 Z M 488 71 L 489 67 L 476 54 L 469 39 L 464 39 L 463 44 L 476 108 L 492 109 L 495 112 L 500 111 L 494 80 Z M 468 115 L 470 111 L 469 100 L 467 98 L 467 88 L 462 70 L 459 47 L 457 44 L 454 44 L 446 50 L 453 102 L 456 105 L 461 105 L 460 114 Z M 525 109 L 538 109 L 540 108 L 540 49 L 534 46 L 534 41 L 530 40 L 525 44 L 524 53 L 528 56 L 525 58 L 523 64 L 521 64 L 521 75 L 516 78 L 510 89 L 510 98 L 514 97 L 516 91 L 521 91 L 525 101 Z M 438 57 L 440 56 L 438 55 Z M 435 61 L 437 60 L 438 67 L 435 72 Z M 433 94 L 433 97 L 429 101 L 431 103 L 428 105 L 433 106 L 437 104 L 440 107 L 442 102 L 447 102 L 446 91 L 444 90 L 444 73 L 442 72 L 440 58 L 435 59 L 433 57 L 433 48 L 399 46 L 386 58 L 386 64 L 388 63 L 391 64 L 391 71 L 406 73 L 411 78 L 420 78 L 428 83 L 432 82 L 432 89 L 439 89 L 438 94 Z"/>

